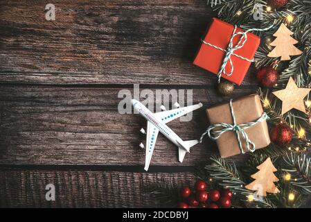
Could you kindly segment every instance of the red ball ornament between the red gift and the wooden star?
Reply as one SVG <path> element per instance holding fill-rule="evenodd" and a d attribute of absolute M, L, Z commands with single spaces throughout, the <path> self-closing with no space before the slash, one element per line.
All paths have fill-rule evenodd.
<path fill-rule="evenodd" d="M 263 67 L 256 74 L 258 83 L 263 87 L 273 87 L 278 82 L 278 72 L 272 67 Z"/>

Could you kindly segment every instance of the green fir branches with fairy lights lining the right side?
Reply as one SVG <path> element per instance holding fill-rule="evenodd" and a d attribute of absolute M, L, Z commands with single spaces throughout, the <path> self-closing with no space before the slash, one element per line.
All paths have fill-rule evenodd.
<path fill-rule="evenodd" d="M 274 28 L 265 33 L 256 33 L 263 37 L 265 42 L 260 45 L 256 56 L 256 68 L 271 65 L 272 62 L 278 62 L 278 58 L 269 58 L 267 54 L 272 50 L 269 42 L 274 40 L 272 36 L 278 27 L 285 23 L 287 27 L 294 33 L 293 37 L 299 42 L 295 46 L 303 53 L 300 56 L 292 57 L 292 60 L 280 62 L 283 71 L 281 71 L 276 88 L 283 88 L 290 77 L 294 78 L 299 87 L 311 87 L 311 1 L 292 0 L 287 3 L 285 8 L 265 11 L 263 20 L 255 21 L 253 18 L 254 6 L 256 3 L 261 3 L 264 10 L 267 10 L 265 1 L 256 0 L 225 0 L 225 1 L 208 1 L 217 11 L 217 16 L 220 19 L 236 24 L 242 28 L 265 28 L 274 24 Z M 311 149 L 310 137 L 311 126 L 309 114 L 304 114 L 299 111 L 291 110 L 286 114 L 281 115 L 281 102 L 272 95 L 271 89 L 258 89 L 258 94 L 263 103 L 265 112 L 269 115 L 269 126 L 276 123 L 286 122 L 292 127 L 294 137 L 292 142 L 285 147 L 277 146 L 272 143 L 267 148 L 260 149 L 254 153 L 249 153 L 248 160 L 241 167 L 242 171 L 238 171 L 235 165 L 231 166 L 231 162 L 217 159 L 213 157 L 212 165 L 205 167 L 207 173 L 215 180 L 220 181 L 220 185 L 229 186 L 234 189 L 238 195 L 244 199 L 243 195 L 244 180 L 241 176 L 245 176 L 246 180 L 256 171 L 256 166 L 263 162 L 267 157 L 272 157 L 276 166 L 281 172 L 291 173 L 292 180 L 287 182 L 280 178 L 278 188 L 281 194 L 267 196 L 267 202 L 273 206 L 279 207 L 299 207 L 303 204 L 305 198 L 311 195 L 311 180 L 310 180 L 310 158 L 305 156 Z M 309 99 L 309 97 L 308 97 Z M 310 108 L 308 108 L 310 112 Z M 300 130 L 305 130 L 305 135 L 301 137 Z M 282 170 L 281 170 L 282 169 Z M 278 176 L 282 177 L 282 173 L 278 171 Z M 242 187 L 241 187 L 242 185 Z M 295 198 L 290 200 L 289 194 L 294 191 Z M 264 205 L 270 207 L 270 204 Z"/>

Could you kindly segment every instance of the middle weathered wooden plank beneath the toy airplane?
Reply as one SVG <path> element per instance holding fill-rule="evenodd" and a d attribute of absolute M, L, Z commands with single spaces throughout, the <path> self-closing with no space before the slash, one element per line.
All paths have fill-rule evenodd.
<path fill-rule="evenodd" d="M 254 90 L 236 89 L 233 98 Z M 145 143 L 145 136 L 139 130 L 145 121 L 139 114 L 118 113 L 119 91 L 0 86 L 0 164 L 142 165 L 145 151 L 139 143 Z M 206 106 L 228 100 L 213 89 L 193 89 L 193 103 L 204 107 L 193 112 L 192 121 L 175 120 L 169 126 L 182 139 L 198 139 L 207 127 Z M 182 164 L 177 153 L 159 135 L 152 165 L 192 166 L 217 153 L 217 148 L 206 139 Z"/>

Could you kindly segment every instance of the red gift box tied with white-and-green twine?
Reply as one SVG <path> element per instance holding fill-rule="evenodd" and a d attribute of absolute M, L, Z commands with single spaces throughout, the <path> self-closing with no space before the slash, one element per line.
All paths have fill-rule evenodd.
<path fill-rule="evenodd" d="M 231 36 L 233 35 L 233 29 L 233 25 L 223 22 L 220 19 L 213 18 L 211 26 L 208 28 L 204 38 L 204 42 L 208 42 L 209 44 L 213 44 L 214 46 L 226 50 L 229 45 Z M 240 31 L 243 32 L 241 28 L 236 28 L 236 33 Z M 233 46 L 236 46 L 241 36 L 242 35 L 236 35 L 236 37 L 233 38 Z M 254 35 L 253 33 L 247 33 L 247 41 L 245 42 L 244 46 L 234 51 L 234 53 L 238 56 L 242 56 L 243 58 L 252 60 L 255 56 L 259 44 L 260 37 Z M 216 49 L 215 47 L 209 46 L 202 42 L 193 64 L 217 75 L 222 66 L 222 61 L 224 60 L 225 54 L 225 51 Z M 233 73 L 231 76 L 222 74 L 222 77 L 226 78 L 232 83 L 240 85 L 245 78 L 245 75 L 247 74 L 247 70 L 249 69 L 251 62 L 242 58 L 238 58 L 234 55 L 231 55 L 231 60 L 234 67 Z M 226 63 L 225 71 L 228 74 L 231 71 L 229 61 Z"/>

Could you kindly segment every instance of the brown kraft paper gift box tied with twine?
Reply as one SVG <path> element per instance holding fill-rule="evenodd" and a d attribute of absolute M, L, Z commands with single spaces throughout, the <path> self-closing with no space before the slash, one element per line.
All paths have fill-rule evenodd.
<path fill-rule="evenodd" d="M 233 99 L 232 105 L 237 125 L 250 121 L 256 121 L 263 114 L 263 107 L 261 106 L 258 94 L 251 94 L 249 96 L 243 96 L 239 99 Z M 206 109 L 206 114 L 211 125 L 216 123 L 233 124 L 229 103 L 208 108 Z M 215 130 L 220 129 L 221 127 L 215 128 Z M 256 149 L 264 148 L 270 144 L 267 121 L 256 123 L 254 126 L 245 129 L 245 133 L 247 133 L 247 136 L 251 142 L 254 142 Z M 242 141 L 243 150 L 247 152 L 246 142 L 241 134 L 240 139 Z M 238 137 L 236 132 L 233 130 L 223 133 L 218 139 L 216 139 L 216 143 L 220 151 L 220 155 L 223 158 L 241 153 L 238 144 Z"/>

